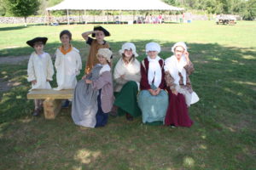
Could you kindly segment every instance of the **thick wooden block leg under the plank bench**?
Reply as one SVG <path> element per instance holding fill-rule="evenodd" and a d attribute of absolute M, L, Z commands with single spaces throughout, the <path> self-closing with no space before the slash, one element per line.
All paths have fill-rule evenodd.
<path fill-rule="evenodd" d="M 55 116 L 61 111 L 61 99 L 44 100 L 45 119 L 55 119 Z"/>

